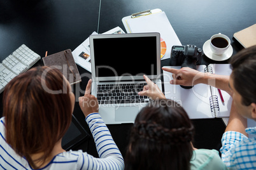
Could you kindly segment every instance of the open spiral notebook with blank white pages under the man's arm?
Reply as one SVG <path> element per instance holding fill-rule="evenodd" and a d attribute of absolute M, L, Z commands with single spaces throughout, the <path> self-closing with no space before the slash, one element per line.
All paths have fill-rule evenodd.
<path fill-rule="evenodd" d="M 167 68 L 180 69 L 180 66 L 169 66 Z M 229 64 L 210 64 L 208 67 L 197 65 L 197 70 L 220 75 L 230 75 L 232 72 Z M 222 103 L 217 88 L 206 84 L 197 84 L 191 89 L 184 89 L 180 85 L 169 83 L 173 79 L 170 72 L 164 71 L 163 73 L 166 98 L 180 103 L 190 119 L 229 117 L 232 98 L 228 93 L 221 91 L 224 98 L 224 103 Z"/>

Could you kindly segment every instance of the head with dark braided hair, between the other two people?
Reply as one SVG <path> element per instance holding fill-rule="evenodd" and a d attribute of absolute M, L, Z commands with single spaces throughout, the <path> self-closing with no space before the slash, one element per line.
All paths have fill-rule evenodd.
<path fill-rule="evenodd" d="M 144 107 L 131 129 L 125 169 L 190 169 L 194 126 L 173 100 Z"/>

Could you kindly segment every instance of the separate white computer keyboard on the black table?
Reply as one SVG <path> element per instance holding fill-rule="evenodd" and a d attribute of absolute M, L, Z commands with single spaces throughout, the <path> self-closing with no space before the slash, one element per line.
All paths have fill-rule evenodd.
<path fill-rule="evenodd" d="M 25 44 L 22 44 L 18 49 L 13 51 L 8 57 L 6 57 L 2 63 L 0 63 L 0 93 L 4 91 L 4 88 L 8 82 L 14 77 L 27 71 L 32 67 L 40 56 Z"/>

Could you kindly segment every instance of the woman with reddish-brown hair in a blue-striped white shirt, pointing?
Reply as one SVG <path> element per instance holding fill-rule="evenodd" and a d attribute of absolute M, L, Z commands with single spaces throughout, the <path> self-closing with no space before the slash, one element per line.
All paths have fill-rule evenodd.
<path fill-rule="evenodd" d="M 98 112 L 95 96 L 79 98 L 99 158 L 62 149 L 75 95 L 58 69 L 36 67 L 6 86 L 0 119 L 0 169 L 124 169 L 124 160 Z"/>

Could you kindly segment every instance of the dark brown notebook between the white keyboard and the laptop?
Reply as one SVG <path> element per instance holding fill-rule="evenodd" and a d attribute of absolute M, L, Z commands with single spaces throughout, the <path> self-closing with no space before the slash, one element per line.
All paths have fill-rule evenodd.
<path fill-rule="evenodd" d="M 70 49 L 43 57 L 43 63 L 48 67 L 59 69 L 70 84 L 82 81 Z"/>

